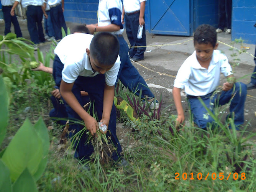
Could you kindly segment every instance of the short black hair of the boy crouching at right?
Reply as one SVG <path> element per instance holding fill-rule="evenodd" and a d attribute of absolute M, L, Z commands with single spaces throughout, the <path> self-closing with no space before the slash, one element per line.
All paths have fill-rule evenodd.
<path fill-rule="evenodd" d="M 194 33 L 194 45 L 198 44 L 208 44 L 210 43 L 213 48 L 215 47 L 217 42 L 217 33 L 216 29 L 208 24 L 202 24 L 197 27 Z"/>

